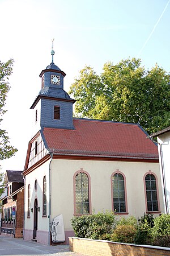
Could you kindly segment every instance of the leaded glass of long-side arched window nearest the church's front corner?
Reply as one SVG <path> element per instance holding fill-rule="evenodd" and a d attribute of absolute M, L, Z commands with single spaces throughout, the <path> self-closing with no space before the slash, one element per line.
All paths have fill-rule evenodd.
<path fill-rule="evenodd" d="M 75 211 L 76 214 L 90 213 L 88 176 L 79 172 L 75 176 Z"/>

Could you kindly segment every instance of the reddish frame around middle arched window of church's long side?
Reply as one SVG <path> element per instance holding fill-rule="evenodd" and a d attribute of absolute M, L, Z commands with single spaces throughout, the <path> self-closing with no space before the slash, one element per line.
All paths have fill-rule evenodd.
<path fill-rule="evenodd" d="M 125 208 L 126 208 L 125 212 L 114 212 L 113 181 L 112 181 L 112 179 L 113 179 L 113 176 L 115 174 L 121 174 L 124 178 L 124 192 L 125 192 L 124 196 L 125 196 Z M 129 212 L 128 212 L 128 200 L 127 200 L 127 189 L 126 189 L 126 176 L 121 171 L 119 171 L 118 169 L 115 172 L 113 172 L 113 174 L 111 175 L 111 196 L 112 196 L 112 210 L 113 210 L 113 212 L 115 214 L 118 214 L 118 215 L 127 215 L 127 214 L 129 214 Z"/>

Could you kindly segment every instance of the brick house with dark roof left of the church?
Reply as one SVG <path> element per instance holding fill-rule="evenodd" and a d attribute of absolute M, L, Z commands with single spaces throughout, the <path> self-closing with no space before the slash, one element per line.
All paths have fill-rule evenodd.
<path fill-rule="evenodd" d="M 2 199 L 1 234 L 23 237 L 24 179 L 22 171 L 7 170 L 4 184 L 6 196 Z"/>

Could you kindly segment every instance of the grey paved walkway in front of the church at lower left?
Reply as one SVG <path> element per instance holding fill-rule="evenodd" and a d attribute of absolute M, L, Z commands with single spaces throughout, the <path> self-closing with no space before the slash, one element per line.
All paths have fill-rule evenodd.
<path fill-rule="evenodd" d="M 0 235 L 0 255 L 86 256 L 69 250 L 69 245 L 42 245 L 22 238 Z"/>

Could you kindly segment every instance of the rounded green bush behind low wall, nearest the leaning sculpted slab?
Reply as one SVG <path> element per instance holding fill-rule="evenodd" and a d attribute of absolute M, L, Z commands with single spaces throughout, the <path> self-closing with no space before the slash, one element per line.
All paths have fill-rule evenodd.
<path fill-rule="evenodd" d="M 91 239 L 108 239 L 115 225 L 115 216 L 113 212 L 99 212 L 91 215 L 75 216 L 71 218 L 76 237 L 85 237 Z"/>

